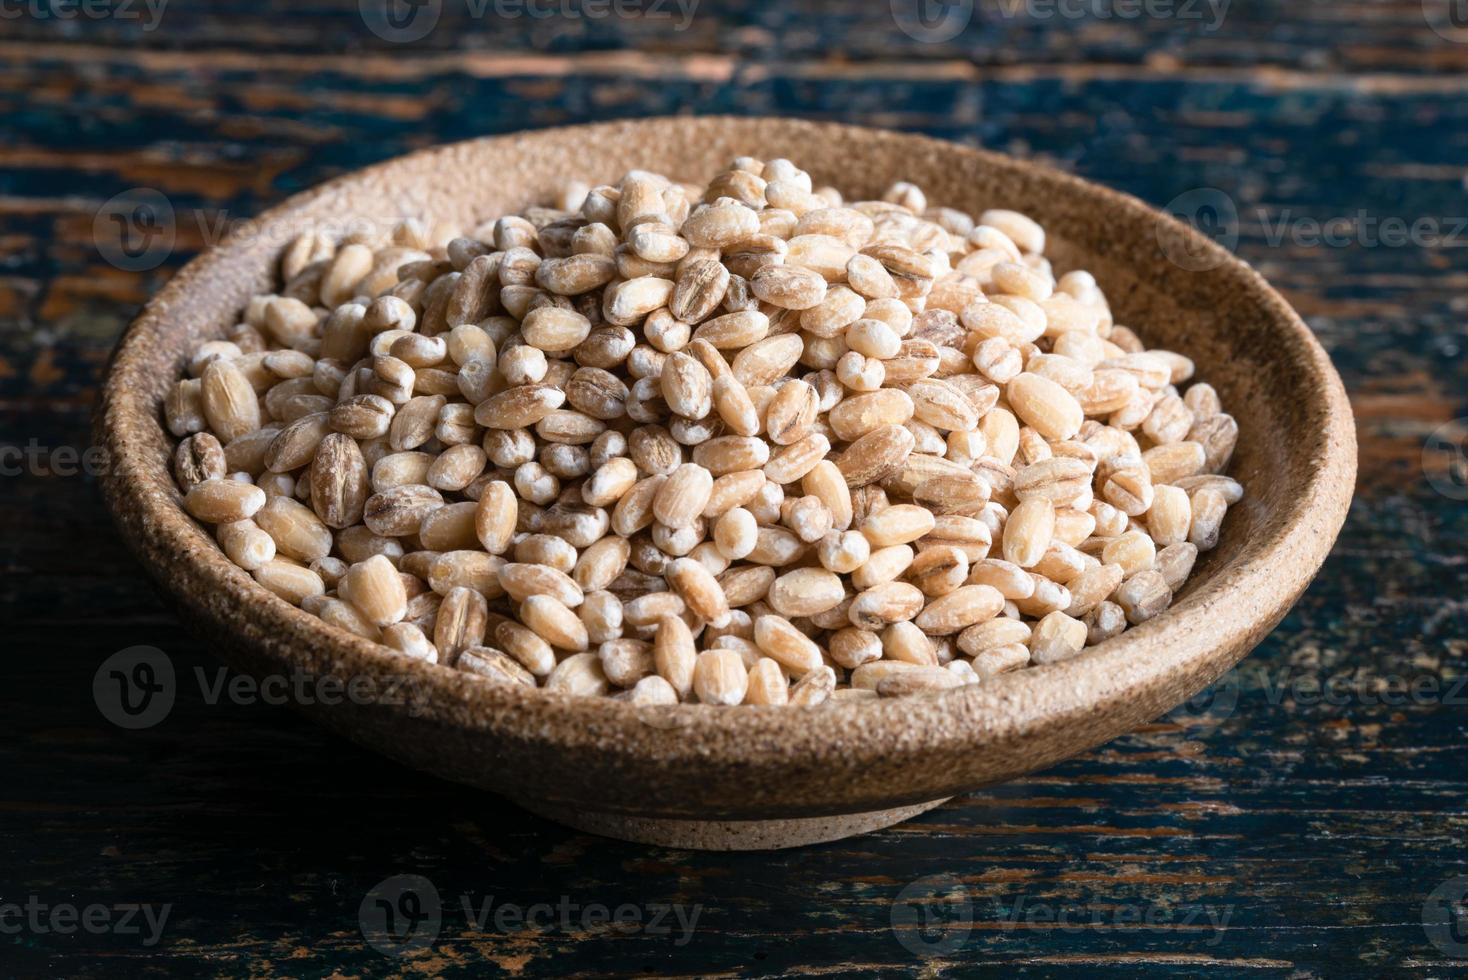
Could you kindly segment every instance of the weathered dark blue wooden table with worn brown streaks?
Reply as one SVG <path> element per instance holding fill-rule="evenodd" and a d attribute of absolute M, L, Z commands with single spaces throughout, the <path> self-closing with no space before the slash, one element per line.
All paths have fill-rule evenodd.
<path fill-rule="evenodd" d="M 918 0 L 706 0 L 686 29 L 664 0 L 642 19 L 590 16 L 631 0 L 495 13 L 550 9 L 527 4 L 474 19 L 480 3 L 430 0 L 440 19 L 408 44 L 351 0 L 175 0 L 157 23 L 132 0 L 0 6 L 0 417 L 23 450 L 0 458 L 0 974 L 1462 973 L 1468 933 L 1443 923 L 1468 888 L 1468 490 L 1447 453 L 1424 464 L 1468 415 L 1468 29 L 1446 3 L 1238 3 L 1218 25 L 1192 0 L 981 0 L 962 32 L 960 0 L 928 19 Z M 222 668 L 76 475 L 139 304 L 222 229 L 333 175 L 653 113 L 923 131 L 1158 205 L 1223 191 L 1223 230 L 1356 409 L 1358 496 L 1315 585 L 1208 706 L 794 852 L 584 836 L 216 697 Z M 135 188 L 173 210 L 173 246 L 141 271 L 94 245 Z M 179 695 L 123 731 L 92 678 L 137 644 L 166 651 Z M 402 874 L 442 913 L 423 949 L 385 957 L 360 910 Z"/>

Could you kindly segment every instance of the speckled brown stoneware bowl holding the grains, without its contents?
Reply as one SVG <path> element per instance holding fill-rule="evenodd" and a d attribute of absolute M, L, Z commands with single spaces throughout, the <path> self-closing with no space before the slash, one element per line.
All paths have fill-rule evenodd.
<path fill-rule="evenodd" d="M 185 352 L 267 292 L 294 230 L 401 216 L 459 227 L 545 202 L 571 179 L 646 167 L 705 180 L 740 154 L 790 157 L 850 198 L 918 182 L 978 214 L 1017 208 L 1048 230 L 1057 271 L 1085 267 L 1120 323 L 1192 356 L 1239 421 L 1243 502 L 1176 604 L 1083 656 L 932 698 L 809 710 L 639 709 L 496 687 L 405 662 L 257 585 L 179 506 L 164 392 Z M 609 836 L 775 848 L 904 820 L 954 794 L 1105 742 L 1189 698 L 1245 656 L 1315 575 L 1345 519 L 1355 430 L 1309 330 L 1248 266 L 1141 201 L 923 136 L 788 119 L 649 119 L 415 153 L 291 198 L 269 236 L 189 263 L 119 345 L 98 417 L 107 503 L 179 615 L 255 676 L 405 678 L 404 704 L 302 706 L 319 722 L 446 779 Z M 398 701 L 401 698 L 383 698 Z"/>

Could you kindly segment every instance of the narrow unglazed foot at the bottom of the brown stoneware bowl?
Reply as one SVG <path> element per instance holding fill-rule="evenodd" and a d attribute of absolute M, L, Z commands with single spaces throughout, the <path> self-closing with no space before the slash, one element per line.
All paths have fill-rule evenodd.
<path fill-rule="evenodd" d="M 944 797 L 891 810 L 791 820 L 664 820 L 630 817 L 621 813 L 597 813 L 549 802 L 524 800 L 515 802 L 536 816 L 568 827 L 633 844 L 655 844 L 688 851 L 778 851 L 881 830 L 926 813 L 950 798 Z"/>

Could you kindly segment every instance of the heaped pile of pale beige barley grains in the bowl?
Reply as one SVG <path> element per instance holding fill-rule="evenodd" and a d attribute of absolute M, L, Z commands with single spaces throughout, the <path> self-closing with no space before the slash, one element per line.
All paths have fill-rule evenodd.
<path fill-rule="evenodd" d="M 446 245 L 305 235 L 189 358 L 175 475 L 276 596 L 489 682 L 984 682 L 1161 613 L 1242 494 L 1214 389 L 1044 246 L 747 157 Z"/>

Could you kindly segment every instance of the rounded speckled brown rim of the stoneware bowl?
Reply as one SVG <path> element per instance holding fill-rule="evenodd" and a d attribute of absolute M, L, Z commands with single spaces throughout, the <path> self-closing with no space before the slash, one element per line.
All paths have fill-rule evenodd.
<path fill-rule="evenodd" d="M 255 223 L 286 223 L 311 202 L 344 188 L 390 176 L 404 167 L 421 167 L 439 154 L 493 151 L 514 142 L 553 139 L 575 134 L 586 141 L 602 138 L 646 138 L 647 132 L 686 125 L 687 116 L 661 116 L 580 126 L 523 131 L 443 144 L 395 157 L 335 178 L 292 195 L 264 211 Z M 1171 224 L 1180 236 L 1214 264 L 1213 274 L 1246 290 L 1273 326 L 1293 342 L 1295 359 L 1305 373 L 1301 389 L 1311 401 L 1311 418 L 1318 418 L 1321 445 L 1305 493 L 1287 509 L 1287 518 L 1252 540 L 1239 557 L 1217 569 L 1185 607 L 1132 626 L 1085 656 L 1063 663 L 1032 666 L 985 682 L 947 691 L 931 698 L 895 698 L 826 706 L 819 710 L 741 706 L 718 710 L 680 704 L 640 707 L 612 698 L 577 698 L 520 687 L 498 685 L 459 670 L 410 660 L 368 640 L 291 606 L 255 584 L 223 556 L 208 535 L 182 511 L 178 494 L 150 491 L 148 478 L 161 468 L 167 483 L 167 461 L 142 445 L 126 420 L 139 414 L 157 420 L 147 387 L 141 384 L 134 356 L 167 323 L 170 311 L 188 290 L 206 285 L 238 258 L 241 236 L 229 235 L 192 258 L 142 308 L 119 340 L 103 389 L 97 418 L 98 439 L 115 465 L 103 477 L 109 508 L 123 537 L 150 574 L 182 569 L 192 582 L 213 587 L 211 594 L 167 591 L 195 615 L 216 624 L 242 643 L 261 647 L 277 663 L 311 669 L 346 668 L 349 673 L 407 675 L 426 694 L 413 713 L 418 717 L 492 735 L 549 741 L 565 750 L 595 748 L 615 754 L 655 751 L 666 764 L 706 761 L 711 751 L 719 763 L 757 766 L 775 753 L 785 760 L 810 764 L 829 758 L 832 747 L 862 760 L 900 760 L 932 751 L 959 751 L 981 742 L 1022 739 L 1039 728 L 1079 722 L 1086 714 L 1117 709 L 1136 691 L 1166 685 L 1167 676 L 1183 668 L 1208 673 L 1211 681 L 1233 660 L 1218 660 L 1240 625 L 1255 640 L 1283 616 L 1324 562 L 1345 519 L 1355 483 L 1355 436 L 1349 402 L 1330 358 L 1299 315 L 1246 263 L 1233 257 L 1192 227 L 1157 211 L 1144 201 L 1042 164 L 986 150 L 935 139 L 926 135 L 788 117 L 699 116 L 699 122 L 747 129 L 759 134 L 772 128 L 790 138 L 829 138 L 900 142 L 913 150 L 959 154 L 973 166 L 1006 172 L 1022 180 L 1038 180 L 1101 202 L 1133 220 Z M 172 437 L 164 433 L 167 445 Z M 1309 533 L 1299 533 L 1308 525 Z M 170 562 L 173 563 L 170 566 Z M 1268 581 L 1261 593 L 1260 584 Z M 238 588 L 251 590 L 257 601 L 235 601 Z M 1262 596 L 1262 599 L 1261 599 Z M 1261 628 L 1262 625 L 1262 628 Z M 1186 697 L 1192 691 L 1182 691 Z M 1176 694 L 1176 691 L 1174 691 Z M 390 710 L 408 713 L 408 707 Z M 1164 709 L 1166 710 L 1166 709 Z M 1083 731 L 1083 729 L 1082 729 Z M 669 738 L 669 732 L 677 734 Z M 1107 735 L 1110 736 L 1110 735 Z M 1104 739 L 1095 739 L 1104 741 Z M 1094 744 L 1094 741 L 1091 742 Z M 1078 742 L 1078 751 L 1088 744 Z"/>

